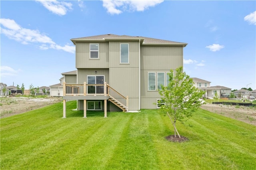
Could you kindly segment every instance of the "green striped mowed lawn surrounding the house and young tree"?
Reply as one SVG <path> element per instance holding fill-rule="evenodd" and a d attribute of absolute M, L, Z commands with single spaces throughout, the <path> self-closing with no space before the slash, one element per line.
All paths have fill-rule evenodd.
<path fill-rule="evenodd" d="M 177 128 L 189 138 L 169 142 L 168 117 L 140 113 L 71 111 L 54 104 L 1 119 L 1 170 L 138 169 L 253 170 L 256 127 L 200 109 Z"/>

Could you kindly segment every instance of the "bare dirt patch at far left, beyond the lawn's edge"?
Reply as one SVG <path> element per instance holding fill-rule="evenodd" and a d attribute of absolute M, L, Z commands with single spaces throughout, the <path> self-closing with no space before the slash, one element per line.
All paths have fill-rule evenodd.
<path fill-rule="evenodd" d="M 1 118 L 39 109 L 62 101 L 62 97 L 1 97 L 0 99 Z"/>

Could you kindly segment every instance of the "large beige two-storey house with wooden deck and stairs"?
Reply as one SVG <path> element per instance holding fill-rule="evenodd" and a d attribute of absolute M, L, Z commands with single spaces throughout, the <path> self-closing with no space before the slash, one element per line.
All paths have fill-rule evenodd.
<path fill-rule="evenodd" d="M 138 111 L 156 109 L 160 85 L 170 69 L 183 66 L 187 43 L 141 36 L 105 34 L 74 38 L 76 84 L 63 83 L 66 100 L 78 100 L 78 110 Z"/>

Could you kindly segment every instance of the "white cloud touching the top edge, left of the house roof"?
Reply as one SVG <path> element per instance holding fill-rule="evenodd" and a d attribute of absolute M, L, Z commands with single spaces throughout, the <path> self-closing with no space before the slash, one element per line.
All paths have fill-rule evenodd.
<path fill-rule="evenodd" d="M 66 15 L 68 10 L 72 10 L 72 3 L 57 0 L 36 0 L 46 9 L 57 15 Z"/>

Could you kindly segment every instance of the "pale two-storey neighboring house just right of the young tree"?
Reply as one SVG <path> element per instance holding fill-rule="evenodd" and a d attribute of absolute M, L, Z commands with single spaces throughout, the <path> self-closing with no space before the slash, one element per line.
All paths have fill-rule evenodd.
<path fill-rule="evenodd" d="M 212 98 L 215 96 L 215 94 L 217 94 L 218 97 L 229 97 L 231 93 L 231 88 L 224 86 L 210 86 L 210 81 L 206 81 L 196 77 L 191 77 L 191 79 L 193 80 L 195 87 L 205 91 L 204 97 Z"/>

